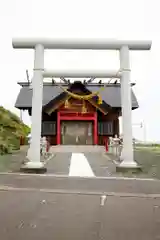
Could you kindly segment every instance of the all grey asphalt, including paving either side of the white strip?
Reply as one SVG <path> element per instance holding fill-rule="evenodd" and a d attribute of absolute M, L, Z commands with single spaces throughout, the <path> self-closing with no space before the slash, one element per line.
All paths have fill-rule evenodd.
<path fill-rule="evenodd" d="M 0 174 L 1 239 L 160 238 L 160 181 L 114 178 L 96 153 L 86 155 L 94 177 L 69 177 L 70 156 L 58 154 L 46 174 Z"/>

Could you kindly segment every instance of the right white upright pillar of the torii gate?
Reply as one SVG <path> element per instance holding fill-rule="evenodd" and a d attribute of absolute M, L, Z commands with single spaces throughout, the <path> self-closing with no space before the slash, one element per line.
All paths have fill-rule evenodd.
<path fill-rule="evenodd" d="M 129 48 L 122 46 L 120 49 L 121 74 L 121 106 L 122 106 L 122 132 L 123 150 L 122 163 L 119 167 L 137 167 L 133 156 L 132 143 L 132 104 L 131 104 L 131 85 L 130 85 L 130 63 Z"/>

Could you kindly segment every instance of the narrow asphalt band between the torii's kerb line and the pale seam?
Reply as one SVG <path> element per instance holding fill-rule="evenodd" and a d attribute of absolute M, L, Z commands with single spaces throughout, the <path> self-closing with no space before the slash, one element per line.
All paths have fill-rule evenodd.
<path fill-rule="evenodd" d="M 119 178 L 63 177 L 49 175 L 0 174 L 0 188 L 51 189 L 70 192 L 114 192 L 160 194 L 159 180 L 134 180 Z"/>

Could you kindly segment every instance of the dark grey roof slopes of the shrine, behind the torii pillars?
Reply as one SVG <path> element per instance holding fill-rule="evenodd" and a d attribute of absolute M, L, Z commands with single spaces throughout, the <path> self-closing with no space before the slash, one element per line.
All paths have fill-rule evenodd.
<path fill-rule="evenodd" d="M 23 84 L 20 93 L 17 97 L 15 107 L 19 109 L 27 109 L 32 106 L 32 89 Z M 96 84 L 86 85 L 86 88 L 91 92 L 99 90 Z M 55 85 L 44 84 L 43 86 L 43 106 L 48 104 L 52 99 L 61 94 L 63 90 Z M 111 107 L 121 107 L 121 91 L 120 84 L 108 84 L 104 90 L 100 91 L 102 99 Z M 132 108 L 138 108 L 138 102 L 132 90 Z"/>

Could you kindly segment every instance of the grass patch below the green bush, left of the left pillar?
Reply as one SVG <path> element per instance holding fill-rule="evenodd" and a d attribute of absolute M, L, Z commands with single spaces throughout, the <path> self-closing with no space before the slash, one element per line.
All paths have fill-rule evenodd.
<path fill-rule="evenodd" d="M 0 172 L 17 172 L 25 158 L 27 147 L 23 146 L 12 154 L 0 155 Z"/>

